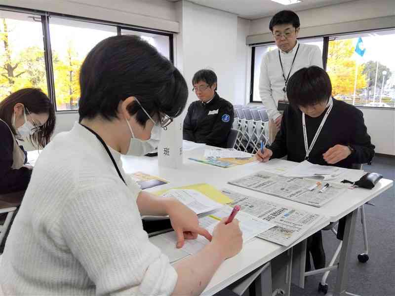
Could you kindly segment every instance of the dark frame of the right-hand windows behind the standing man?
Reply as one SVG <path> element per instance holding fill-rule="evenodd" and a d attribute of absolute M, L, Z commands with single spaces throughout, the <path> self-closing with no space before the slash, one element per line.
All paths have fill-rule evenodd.
<path fill-rule="evenodd" d="M 374 33 L 374 32 L 387 31 L 387 30 L 395 30 L 395 27 L 372 29 L 372 30 L 362 30 L 362 31 L 354 31 L 354 32 L 343 32 L 343 33 L 339 33 L 339 34 L 330 34 L 330 35 L 310 36 L 310 37 L 298 38 L 298 40 L 322 37 L 322 41 L 323 41 L 322 65 L 323 65 L 323 69 L 326 71 L 326 65 L 327 65 L 327 60 L 328 60 L 329 41 L 331 38 L 345 36 L 345 35 L 358 35 L 358 34 L 364 34 L 364 33 Z M 253 101 L 253 98 L 254 98 L 255 47 L 269 46 L 269 45 L 273 45 L 273 44 L 276 44 L 276 43 L 274 41 L 271 41 L 271 42 L 254 43 L 254 44 L 249 45 L 252 47 L 251 52 L 253 53 L 253 54 L 251 54 L 250 98 L 249 98 L 249 103 L 251 103 L 251 104 L 263 104 L 262 101 Z M 395 106 L 394 107 L 355 106 L 355 107 L 358 109 L 362 108 L 362 109 L 395 110 Z"/>

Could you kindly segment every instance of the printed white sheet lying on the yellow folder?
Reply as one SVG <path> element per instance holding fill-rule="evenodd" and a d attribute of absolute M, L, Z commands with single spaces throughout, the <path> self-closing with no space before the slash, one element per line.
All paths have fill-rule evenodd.
<path fill-rule="evenodd" d="M 194 189 L 170 189 L 162 196 L 176 198 L 196 214 L 210 212 L 223 206 Z"/>

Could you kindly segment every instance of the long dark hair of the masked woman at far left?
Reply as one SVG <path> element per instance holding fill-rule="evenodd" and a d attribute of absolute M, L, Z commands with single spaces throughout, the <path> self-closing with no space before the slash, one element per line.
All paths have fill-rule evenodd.
<path fill-rule="evenodd" d="M 33 145 L 38 148 L 44 148 L 50 141 L 56 123 L 55 109 L 51 101 L 39 88 L 23 88 L 10 94 L 0 102 L 0 118 L 8 124 L 14 135 L 17 133 L 12 126 L 11 118 L 14 113 L 14 106 L 18 103 L 23 104 L 31 113 L 48 114 L 48 120 L 45 124 L 38 132 L 30 136 L 30 142 Z M 27 112 L 27 114 L 29 113 Z"/>

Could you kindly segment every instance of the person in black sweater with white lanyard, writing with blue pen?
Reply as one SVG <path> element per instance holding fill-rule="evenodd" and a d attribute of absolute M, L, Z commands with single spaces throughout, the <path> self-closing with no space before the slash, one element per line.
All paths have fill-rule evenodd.
<path fill-rule="evenodd" d="M 335 100 L 331 94 L 330 78 L 321 68 L 312 66 L 295 72 L 287 84 L 290 105 L 282 116 L 280 132 L 264 153 L 258 151 L 258 160 L 266 162 L 287 155 L 290 161 L 307 159 L 315 164 L 344 168 L 370 163 L 375 146 L 370 142 L 362 112 Z M 343 239 L 344 222 L 344 219 L 339 221 L 338 239 Z M 308 239 L 307 249 L 306 270 L 311 268 L 309 252 L 315 268 L 324 267 L 320 231 Z"/>

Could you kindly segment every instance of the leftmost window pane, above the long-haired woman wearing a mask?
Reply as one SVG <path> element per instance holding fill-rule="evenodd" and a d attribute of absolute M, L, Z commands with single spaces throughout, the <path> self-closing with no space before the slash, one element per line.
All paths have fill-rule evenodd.
<path fill-rule="evenodd" d="M 41 17 L 0 10 L 0 101 L 25 87 L 48 93 Z"/>

